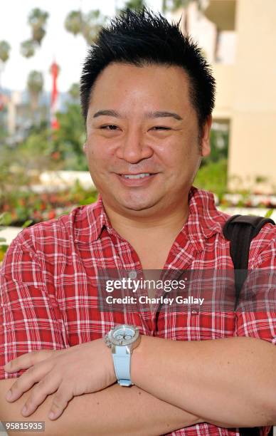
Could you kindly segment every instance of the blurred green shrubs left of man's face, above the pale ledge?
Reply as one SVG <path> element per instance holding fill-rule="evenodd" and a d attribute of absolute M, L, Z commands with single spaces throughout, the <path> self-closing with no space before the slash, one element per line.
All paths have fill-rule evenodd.
<path fill-rule="evenodd" d="M 1 197 L 9 193 L 9 187 L 13 189 L 14 182 L 17 188 L 29 185 L 27 172 L 87 170 L 83 152 L 85 125 L 80 105 L 68 101 L 65 113 L 58 113 L 57 118 L 59 130 L 53 132 L 44 121 L 33 125 L 26 140 L 16 149 L 0 147 L 0 202 Z"/>

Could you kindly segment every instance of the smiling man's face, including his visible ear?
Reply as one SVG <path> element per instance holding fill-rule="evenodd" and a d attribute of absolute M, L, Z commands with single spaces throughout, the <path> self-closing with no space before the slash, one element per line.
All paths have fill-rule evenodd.
<path fill-rule="evenodd" d="M 201 156 L 210 151 L 210 124 L 199 144 L 183 68 L 107 66 L 92 91 L 85 144 L 104 204 L 130 216 L 183 207 Z"/>

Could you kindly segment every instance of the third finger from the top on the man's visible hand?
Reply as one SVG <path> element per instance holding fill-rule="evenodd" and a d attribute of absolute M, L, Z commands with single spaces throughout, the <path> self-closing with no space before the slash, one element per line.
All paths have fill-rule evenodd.
<path fill-rule="evenodd" d="M 38 405 L 41 405 L 48 395 L 58 389 L 61 382 L 62 378 L 58 373 L 53 374 L 53 372 L 51 372 L 51 374 L 46 375 L 46 377 L 33 388 L 31 395 L 28 397 L 28 400 L 21 410 L 21 414 L 28 416 L 35 412 Z"/>

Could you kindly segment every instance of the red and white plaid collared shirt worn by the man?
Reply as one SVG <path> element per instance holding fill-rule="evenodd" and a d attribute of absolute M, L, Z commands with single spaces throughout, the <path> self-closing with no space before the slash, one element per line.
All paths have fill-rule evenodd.
<path fill-rule="evenodd" d="M 164 269 L 233 269 L 229 242 L 222 234 L 228 215 L 213 194 L 192 187 L 189 219 L 179 232 Z M 273 248 L 274 243 L 274 248 Z M 275 227 L 266 224 L 250 246 L 249 269 L 275 268 Z M 14 239 L 1 267 L 0 379 L 18 377 L 3 366 L 23 353 L 75 346 L 102 336 L 117 324 L 139 326 L 141 333 L 178 341 L 250 336 L 276 342 L 276 313 L 100 312 L 99 269 L 139 270 L 134 249 L 105 214 L 102 200 L 69 215 L 24 229 Z M 269 427 L 264 427 L 264 434 Z M 202 423 L 171 435 L 238 435 Z"/>

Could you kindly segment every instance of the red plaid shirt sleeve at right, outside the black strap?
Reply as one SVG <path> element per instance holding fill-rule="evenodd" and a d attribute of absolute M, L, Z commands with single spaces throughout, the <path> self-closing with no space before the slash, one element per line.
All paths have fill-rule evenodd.
<path fill-rule="evenodd" d="M 265 226 L 250 246 L 248 278 L 240 292 L 234 336 L 276 344 L 276 226 Z"/>

